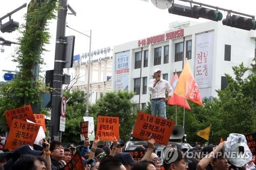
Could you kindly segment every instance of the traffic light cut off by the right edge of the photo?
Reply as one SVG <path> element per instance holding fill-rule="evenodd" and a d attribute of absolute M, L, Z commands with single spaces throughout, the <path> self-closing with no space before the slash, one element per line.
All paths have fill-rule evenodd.
<path fill-rule="evenodd" d="M 238 15 L 227 15 L 227 17 L 222 20 L 222 24 L 225 26 L 235 27 L 243 30 L 256 29 L 256 20 Z"/>

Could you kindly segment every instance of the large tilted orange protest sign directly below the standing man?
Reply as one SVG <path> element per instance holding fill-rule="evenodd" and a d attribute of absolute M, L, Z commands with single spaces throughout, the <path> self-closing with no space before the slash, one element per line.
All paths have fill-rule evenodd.
<path fill-rule="evenodd" d="M 167 145 L 174 125 L 175 122 L 173 120 L 139 112 L 133 130 L 133 137 L 147 140 L 152 134 L 152 138 L 157 143 Z"/>

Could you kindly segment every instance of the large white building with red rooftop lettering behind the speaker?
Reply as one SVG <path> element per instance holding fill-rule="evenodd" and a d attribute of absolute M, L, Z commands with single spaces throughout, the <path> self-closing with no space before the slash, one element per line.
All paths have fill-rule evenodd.
<path fill-rule="evenodd" d="M 202 98 L 216 97 L 215 90 L 225 88 L 224 74 L 233 76 L 232 66 L 252 63 L 256 50 L 254 30 L 231 28 L 215 21 L 176 22 L 171 27 L 174 30 L 114 46 L 112 88 L 135 91 L 133 100 L 142 108 L 150 101 L 147 82 L 153 78 L 153 70 L 160 68 L 162 78 L 171 82 L 175 71 L 179 75 L 182 70 L 183 50 Z"/>

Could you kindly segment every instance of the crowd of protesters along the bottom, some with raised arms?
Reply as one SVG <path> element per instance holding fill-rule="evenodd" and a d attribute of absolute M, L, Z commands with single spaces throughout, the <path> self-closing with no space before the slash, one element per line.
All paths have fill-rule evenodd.
<path fill-rule="evenodd" d="M 37 150 L 30 145 L 23 145 L 14 151 L 0 151 L 0 169 L 4 170 L 55 170 L 63 169 L 72 157 L 79 153 L 82 158 L 83 168 L 86 170 L 256 170 L 255 160 L 249 161 L 242 167 L 236 167 L 226 158 L 219 155 L 224 142 L 218 146 L 208 145 L 204 148 L 197 144 L 190 150 L 179 148 L 178 145 L 168 145 L 164 148 L 163 160 L 155 151 L 155 140 L 148 138 L 147 144 L 135 150 L 143 150 L 144 155 L 135 161 L 129 152 L 123 152 L 124 143 L 113 141 L 111 145 L 101 143 L 95 138 L 91 143 L 89 138 L 78 147 L 69 144 L 66 147 L 59 141 L 44 140 L 43 149 Z M 208 153 L 206 156 L 193 153 Z M 189 154 L 193 154 L 191 156 Z M 211 155 L 211 156 L 209 156 Z"/>

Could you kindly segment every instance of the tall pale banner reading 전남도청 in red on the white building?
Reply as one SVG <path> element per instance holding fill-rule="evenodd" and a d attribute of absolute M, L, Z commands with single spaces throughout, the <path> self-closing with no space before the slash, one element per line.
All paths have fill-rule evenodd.
<path fill-rule="evenodd" d="M 195 79 L 199 88 L 212 86 L 214 31 L 196 35 Z"/>

